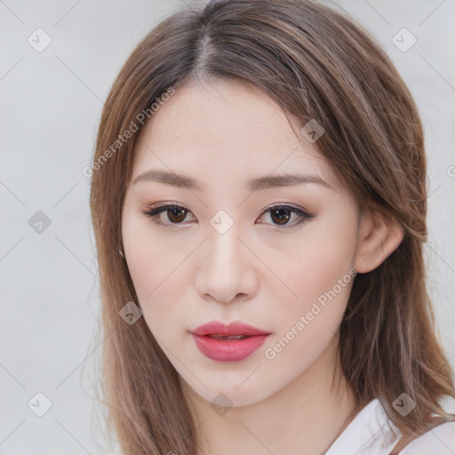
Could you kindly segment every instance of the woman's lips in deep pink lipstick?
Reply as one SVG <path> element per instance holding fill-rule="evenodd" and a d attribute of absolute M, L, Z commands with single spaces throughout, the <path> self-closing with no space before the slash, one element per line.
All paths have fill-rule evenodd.
<path fill-rule="evenodd" d="M 238 362 L 261 347 L 267 331 L 261 331 L 241 322 L 219 321 L 204 323 L 191 331 L 196 347 L 208 358 L 217 362 Z"/>

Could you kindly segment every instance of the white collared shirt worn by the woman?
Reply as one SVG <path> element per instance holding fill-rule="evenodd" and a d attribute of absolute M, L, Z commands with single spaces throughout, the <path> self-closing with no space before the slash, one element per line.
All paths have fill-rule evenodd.
<path fill-rule="evenodd" d="M 396 436 L 390 430 L 395 430 Z M 389 455 L 402 436 L 375 398 L 347 425 L 325 455 Z M 400 455 L 454 455 L 455 422 L 446 422 L 408 443 Z"/>

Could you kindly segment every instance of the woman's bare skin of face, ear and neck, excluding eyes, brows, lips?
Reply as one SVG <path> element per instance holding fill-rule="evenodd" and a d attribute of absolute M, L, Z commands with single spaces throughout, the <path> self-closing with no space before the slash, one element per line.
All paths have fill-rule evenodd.
<path fill-rule="evenodd" d="M 378 215 L 360 217 L 317 142 L 299 141 L 295 131 L 255 87 L 189 83 L 151 117 L 135 147 L 124 256 L 148 328 L 180 373 L 200 424 L 199 455 L 314 455 L 328 450 L 353 417 L 352 391 L 343 378 L 339 389 L 331 382 L 353 280 L 273 359 L 265 352 L 349 270 L 378 267 L 403 231 Z M 132 183 L 152 169 L 188 175 L 202 188 Z M 246 188 L 254 177 L 284 172 L 318 176 L 331 188 Z M 180 225 L 157 225 L 144 212 L 159 203 L 184 206 L 187 217 L 163 212 L 159 220 Z M 288 212 L 288 224 L 280 225 L 270 212 L 261 214 L 274 204 L 315 218 L 297 224 L 299 216 Z M 210 223 L 220 210 L 234 222 L 223 234 Z M 243 321 L 271 335 L 241 362 L 215 362 L 189 333 L 212 320 Z M 220 394 L 232 403 L 225 413 L 212 406 L 223 404 Z"/>

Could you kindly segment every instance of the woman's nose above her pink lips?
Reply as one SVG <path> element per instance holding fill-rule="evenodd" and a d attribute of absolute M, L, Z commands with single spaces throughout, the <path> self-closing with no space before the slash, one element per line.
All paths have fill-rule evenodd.
<path fill-rule="evenodd" d="M 251 248 L 251 247 L 250 247 Z M 259 259 L 238 236 L 235 225 L 228 232 L 209 233 L 199 251 L 196 291 L 202 299 L 229 303 L 251 299 L 259 287 L 255 270 Z"/>

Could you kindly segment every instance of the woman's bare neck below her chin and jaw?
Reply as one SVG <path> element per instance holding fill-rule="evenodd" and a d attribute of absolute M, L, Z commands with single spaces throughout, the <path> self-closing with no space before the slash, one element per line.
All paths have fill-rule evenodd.
<path fill-rule="evenodd" d="M 355 411 L 354 395 L 340 372 L 337 347 L 338 337 L 333 337 L 323 354 L 286 387 L 223 415 L 181 381 L 201 442 L 198 455 L 320 455 L 327 451 Z"/>

